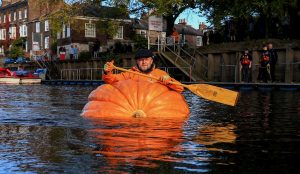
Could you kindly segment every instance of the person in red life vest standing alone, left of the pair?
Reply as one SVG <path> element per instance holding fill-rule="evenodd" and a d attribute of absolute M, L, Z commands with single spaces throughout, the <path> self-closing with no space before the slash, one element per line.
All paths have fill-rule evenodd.
<path fill-rule="evenodd" d="M 244 51 L 244 54 L 240 58 L 240 71 L 242 71 L 242 82 L 249 83 L 251 66 L 252 66 L 252 57 L 249 54 L 249 50 L 246 49 Z"/>

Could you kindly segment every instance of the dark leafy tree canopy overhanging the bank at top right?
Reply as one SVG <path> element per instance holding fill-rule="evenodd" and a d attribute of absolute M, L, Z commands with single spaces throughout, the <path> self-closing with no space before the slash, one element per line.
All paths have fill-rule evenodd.
<path fill-rule="evenodd" d="M 297 0 L 202 0 L 200 11 L 215 28 L 221 28 L 229 17 L 236 21 L 256 18 L 261 21 L 268 37 L 274 20 L 282 18 L 291 7 L 297 5 Z"/>

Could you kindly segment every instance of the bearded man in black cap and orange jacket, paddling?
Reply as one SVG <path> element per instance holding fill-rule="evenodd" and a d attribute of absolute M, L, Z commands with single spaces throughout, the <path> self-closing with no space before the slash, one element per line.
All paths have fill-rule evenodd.
<path fill-rule="evenodd" d="M 159 78 L 159 80 L 157 81 L 155 79 L 139 76 L 137 74 L 133 74 L 130 72 L 113 74 L 114 61 L 111 61 L 111 62 L 106 62 L 104 65 L 104 75 L 103 75 L 104 82 L 108 84 L 112 84 L 120 80 L 133 79 L 137 81 L 141 80 L 141 81 L 159 82 L 177 92 L 182 92 L 184 90 L 183 86 L 170 83 L 171 81 L 172 82 L 178 82 L 178 81 L 171 78 L 167 72 L 157 69 L 155 67 L 155 64 L 153 62 L 153 53 L 150 50 L 148 49 L 138 50 L 135 55 L 135 60 L 136 60 L 136 65 L 133 66 L 130 69 L 130 71 L 136 71 L 136 72 L 147 74 L 149 76 L 154 76 Z"/>

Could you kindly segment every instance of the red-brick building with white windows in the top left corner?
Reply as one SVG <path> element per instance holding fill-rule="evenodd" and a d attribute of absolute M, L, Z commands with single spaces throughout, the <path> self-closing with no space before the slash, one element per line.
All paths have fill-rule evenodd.
<path fill-rule="evenodd" d="M 24 54 L 37 54 L 50 48 L 50 23 L 47 15 L 58 10 L 64 1 L 2 0 L 0 7 L 0 55 L 4 56 L 18 38 L 23 38 Z"/>

